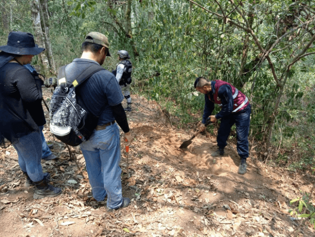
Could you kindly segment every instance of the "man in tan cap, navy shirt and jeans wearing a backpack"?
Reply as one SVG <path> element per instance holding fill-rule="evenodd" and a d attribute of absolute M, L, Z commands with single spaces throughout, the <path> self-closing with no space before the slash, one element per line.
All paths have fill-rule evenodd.
<path fill-rule="evenodd" d="M 99 32 L 87 34 L 82 51 L 81 58 L 65 66 L 64 77 L 58 76 L 58 84 L 66 80 L 68 84 L 76 86 L 75 97 L 78 104 L 99 117 L 97 126 L 89 139 L 80 144 L 80 148 L 84 155 L 93 197 L 96 201 L 104 201 L 107 196 L 107 209 L 112 211 L 126 207 L 130 203 L 130 199 L 122 195 L 118 125 L 125 133 L 124 140 L 128 141 L 127 145 L 131 143 L 132 137 L 121 104 L 124 97 L 114 75 L 105 69 L 99 70 L 80 84 L 81 74 L 87 68 L 102 65 L 106 56 L 110 56 L 107 37 Z M 57 87 L 56 91 L 58 90 Z"/>

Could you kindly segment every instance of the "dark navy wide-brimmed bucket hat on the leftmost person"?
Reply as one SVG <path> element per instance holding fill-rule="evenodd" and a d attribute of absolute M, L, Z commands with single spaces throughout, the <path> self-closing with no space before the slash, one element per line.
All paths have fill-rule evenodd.
<path fill-rule="evenodd" d="M 12 31 L 9 33 L 7 45 L 0 46 L 0 50 L 14 55 L 38 55 L 45 48 L 35 44 L 31 33 Z"/>

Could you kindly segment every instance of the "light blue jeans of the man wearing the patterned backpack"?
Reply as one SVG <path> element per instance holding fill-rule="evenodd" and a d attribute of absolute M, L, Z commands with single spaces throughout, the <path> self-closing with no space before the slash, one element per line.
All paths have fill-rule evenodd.
<path fill-rule="evenodd" d="M 90 139 L 80 144 L 86 171 L 96 201 L 107 195 L 107 207 L 118 208 L 123 203 L 120 137 L 116 123 L 103 130 L 94 130 Z"/>

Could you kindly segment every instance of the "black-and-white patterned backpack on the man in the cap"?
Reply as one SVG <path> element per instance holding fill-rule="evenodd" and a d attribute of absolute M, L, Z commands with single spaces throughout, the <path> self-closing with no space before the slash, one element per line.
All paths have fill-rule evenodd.
<path fill-rule="evenodd" d="M 90 138 L 99 117 L 78 103 L 75 88 L 95 72 L 105 69 L 100 65 L 92 65 L 74 78 L 75 80 L 68 81 L 65 67 L 59 69 L 59 86 L 55 89 L 50 103 L 50 130 L 63 143 L 78 146 Z"/>

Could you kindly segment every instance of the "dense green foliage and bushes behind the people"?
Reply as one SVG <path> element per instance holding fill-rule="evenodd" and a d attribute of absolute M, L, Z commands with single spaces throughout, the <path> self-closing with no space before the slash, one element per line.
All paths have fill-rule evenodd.
<path fill-rule="evenodd" d="M 8 2 L 14 16 L 10 30 L 34 33 L 28 1 Z M 124 31 L 129 3 L 132 38 Z M 179 0 L 55 0 L 48 4 L 57 67 L 81 56 L 87 33 L 102 32 L 110 41 L 112 55 L 104 67 L 113 70 L 118 62 L 115 52 L 126 49 L 134 66 L 133 92 L 157 100 L 171 115 L 179 117 L 177 126 L 201 120 L 204 95 L 193 88 L 196 77 L 227 81 L 250 99 L 250 133 L 256 140 L 264 141 L 276 115 L 272 145 L 286 150 L 274 157 L 276 162 L 290 169 L 314 168 L 313 44 L 305 51 L 309 55 L 286 73 L 313 34 L 307 32 L 314 27 L 313 21 L 307 27 L 293 29 L 313 17 L 314 1 L 249 1 L 236 2 L 235 6 L 226 0 L 198 1 L 214 14 Z M 228 13 L 229 20 L 220 17 Z M 246 30 L 248 27 L 256 39 Z M 0 34 L 5 44 L 8 32 L 1 29 Z M 270 62 L 262 60 L 271 46 Z M 219 110 L 215 107 L 213 114 Z"/>

